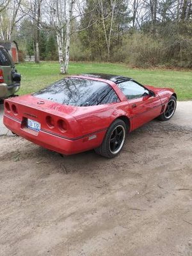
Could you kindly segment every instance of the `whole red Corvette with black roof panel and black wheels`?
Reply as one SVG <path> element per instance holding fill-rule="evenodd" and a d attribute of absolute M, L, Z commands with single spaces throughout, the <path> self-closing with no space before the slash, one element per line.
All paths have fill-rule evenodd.
<path fill-rule="evenodd" d="M 158 117 L 172 118 L 177 95 L 108 74 L 68 76 L 31 95 L 4 100 L 4 125 L 61 154 L 95 149 L 111 158 L 128 132 Z"/>

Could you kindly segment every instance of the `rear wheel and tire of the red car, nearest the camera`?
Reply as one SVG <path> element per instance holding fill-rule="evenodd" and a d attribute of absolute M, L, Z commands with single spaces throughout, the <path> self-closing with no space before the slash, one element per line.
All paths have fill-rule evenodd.
<path fill-rule="evenodd" d="M 124 146 L 126 132 L 127 127 L 125 122 L 116 119 L 106 132 L 106 136 L 100 147 L 95 148 L 95 152 L 107 158 L 117 156 Z"/>

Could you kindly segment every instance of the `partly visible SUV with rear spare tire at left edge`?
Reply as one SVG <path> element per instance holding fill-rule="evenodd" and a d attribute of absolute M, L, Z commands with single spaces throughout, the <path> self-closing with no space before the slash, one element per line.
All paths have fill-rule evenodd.
<path fill-rule="evenodd" d="M 0 45 L 0 100 L 14 96 L 20 88 L 20 74 L 8 51 Z"/>

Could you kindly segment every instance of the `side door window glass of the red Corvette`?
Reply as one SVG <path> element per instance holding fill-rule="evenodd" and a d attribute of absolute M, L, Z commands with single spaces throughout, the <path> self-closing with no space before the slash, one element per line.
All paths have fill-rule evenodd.
<path fill-rule="evenodd" d="M 117 84 L 127 99 L 135 99 L 148 94 L 148 90 L 134 81 L 125 81 Z"/>

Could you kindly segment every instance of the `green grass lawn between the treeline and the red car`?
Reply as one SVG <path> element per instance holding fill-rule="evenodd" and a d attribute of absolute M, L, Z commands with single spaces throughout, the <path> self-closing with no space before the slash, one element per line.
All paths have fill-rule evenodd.
<path fill-rule="evenodd" d="M 47 84 L 63 77 L 57 62 L 20 63 L 17 70 L 22 74 L 22 83 L 19 94 L 36 92 Z M 150 84 L 159 87 L 172 87 L 175 89 L 179 100 L 192 99 L 192 72 L 175 70 L 150 70 L 129 68 L 123 64 L 112 63 L 82 63 L 72 62 L 69 74 L 85 72 L 120 74 L 132 77 L 141 84 Z"/>

